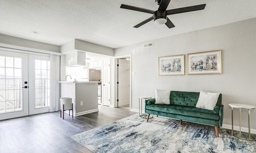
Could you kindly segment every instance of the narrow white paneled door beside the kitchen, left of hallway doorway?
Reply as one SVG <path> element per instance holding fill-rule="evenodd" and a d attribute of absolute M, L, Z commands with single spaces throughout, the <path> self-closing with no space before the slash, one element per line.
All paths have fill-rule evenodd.
<path fill-rule="evenodd" d="M 103 105 L 110 106 L 110 58 L 103 60 Z"/>

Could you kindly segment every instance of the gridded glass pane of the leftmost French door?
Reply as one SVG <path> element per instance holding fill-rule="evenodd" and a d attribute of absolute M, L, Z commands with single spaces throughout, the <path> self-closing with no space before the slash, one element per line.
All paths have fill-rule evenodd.
<path fill-rule="evenodd" d="M 0 113 L 23 110 L 22 59 L 0 56 Z"/>

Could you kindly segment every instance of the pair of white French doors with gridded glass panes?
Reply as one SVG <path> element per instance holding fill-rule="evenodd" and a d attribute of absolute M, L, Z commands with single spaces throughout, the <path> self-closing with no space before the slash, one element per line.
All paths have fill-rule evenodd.
<path fill-rule="evenodd" d="M 0 120 L 49 112 L 49 56 L 0 50 Z"/>

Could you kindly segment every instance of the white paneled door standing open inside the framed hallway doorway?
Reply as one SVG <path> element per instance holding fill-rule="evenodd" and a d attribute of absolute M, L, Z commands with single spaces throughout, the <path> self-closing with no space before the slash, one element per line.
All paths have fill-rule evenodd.
<path fill-rule="evenodd" d="M 118 106 L 130 104 L 130 61 L 118 59 Z"/>

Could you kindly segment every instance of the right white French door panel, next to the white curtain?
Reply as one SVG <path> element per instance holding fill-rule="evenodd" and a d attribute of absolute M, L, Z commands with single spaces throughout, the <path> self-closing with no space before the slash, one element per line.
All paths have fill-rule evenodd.
<path fill-rule="evenodd" d="M 29 115 L 49 112 L 50 57 L 29 54 Z"/>

